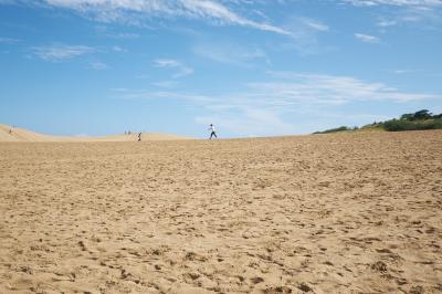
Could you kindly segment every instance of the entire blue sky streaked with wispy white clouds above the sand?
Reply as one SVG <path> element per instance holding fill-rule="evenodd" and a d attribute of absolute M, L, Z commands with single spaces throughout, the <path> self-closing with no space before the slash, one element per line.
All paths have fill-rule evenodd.
<path fill-rule="evenodd" d="M 55 135 L 308 134 L 442 113 L 440 0 L 0 0 L 0 117 Z"/>

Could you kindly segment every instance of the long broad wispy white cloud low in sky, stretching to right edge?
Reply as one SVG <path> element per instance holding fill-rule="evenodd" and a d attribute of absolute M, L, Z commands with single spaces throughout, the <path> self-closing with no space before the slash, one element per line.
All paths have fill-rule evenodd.
<path fill-rule="evenodd" d="M 242 92 L 219 96 L 188 93 L 151 92 L 146 90 L 119 91 L 125 98 L 170 97 L 210 102 L 224 108 L 255 105 L 286 109 L 299 104 L 341 105 L 365 101 L 410 101 L 442 98 L 442 95 L 407 93 L 379 82 L 366 82 L 351 76 L 306 74 L 295 72 L 269 72 L 272 81 L 244 84 Z"/>

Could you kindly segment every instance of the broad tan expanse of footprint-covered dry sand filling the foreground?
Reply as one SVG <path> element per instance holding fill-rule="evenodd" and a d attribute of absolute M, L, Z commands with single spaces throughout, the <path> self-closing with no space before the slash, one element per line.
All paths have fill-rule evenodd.
<path fill-rule="evenodd" d="M 441 293 L 442 132 L 0 144 L 0 293 Z"/>

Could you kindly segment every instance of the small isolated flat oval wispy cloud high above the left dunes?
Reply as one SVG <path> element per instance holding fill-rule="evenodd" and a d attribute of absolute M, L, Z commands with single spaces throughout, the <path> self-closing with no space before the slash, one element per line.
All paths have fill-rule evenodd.
<path fill-rule="evenodd" d="M 72 60 L 81 55 L 96 52 L 96 50 L 91 46 L 63 44 L 34 46 L 31 49 L 31 51 L 35 56 L 52 62 Z"/>

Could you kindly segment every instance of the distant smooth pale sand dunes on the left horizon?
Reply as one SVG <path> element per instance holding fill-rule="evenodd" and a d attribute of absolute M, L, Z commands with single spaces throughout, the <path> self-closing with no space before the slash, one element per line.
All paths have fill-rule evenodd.
<path fill-rule="evenodd" d="M 172 134 L 143 133 L 143 140 L 182 140 L 191 139 Z M 136 141 L 137 134 L 130 135 L 109 135 L 103 137 L 69 137 L 52 136 L 34 133 L 24 128 L 0 124 L 0 141 Z"/>

